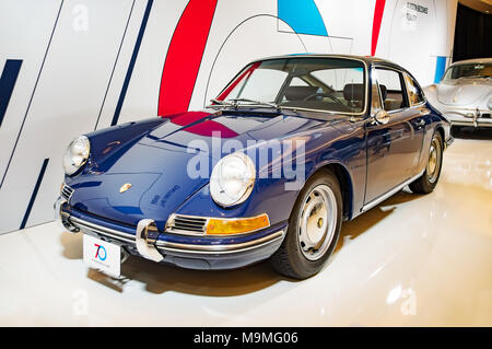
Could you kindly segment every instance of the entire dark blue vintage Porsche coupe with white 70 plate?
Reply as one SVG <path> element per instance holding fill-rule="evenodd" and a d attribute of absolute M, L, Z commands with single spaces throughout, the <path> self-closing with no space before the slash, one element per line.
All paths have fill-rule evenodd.
<path fill-rule="evenodd" d="M 327 263 L 342 221 L 406 185 L 434 189 L 449 129 L 395 63 L 268 58 L 204 110 L 77 138 L 56 210 L 84 233 L 84 260 L 113 276 L 133 254 L 195 269 L 269 258 L 303 279 Z"/>

